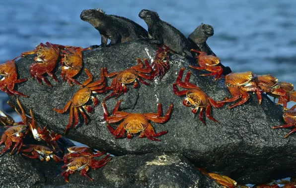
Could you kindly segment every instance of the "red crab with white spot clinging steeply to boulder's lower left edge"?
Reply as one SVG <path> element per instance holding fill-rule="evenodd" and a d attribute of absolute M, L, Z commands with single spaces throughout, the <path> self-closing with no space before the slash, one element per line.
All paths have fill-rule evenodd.
<path fill-rule="evenodd" d="M 30 115 L 31 115 L 31 118 L 30 118 L 26 116 L 25 111 L 21 106 L 18 97 L 16 99 L 16 102 L 18 104 L 18 107 L 20 108 L 20 111 L 16 107 L 14 107 L 14 110 L 19 114 L 23 123 L 30 128 L 34 139 L 37 141 L 41 141 L 41 140 L 45 141 L 48 145 L 51 145 L 53 148 L 55 147 L 59 148 L 59 145 L 57 144 L 57 140 L 59 140 L 62 136 L 47 129 L 47 126 L 41 128 L 39 124 L 35 122 L 32 109 L 30 109 Z"/>

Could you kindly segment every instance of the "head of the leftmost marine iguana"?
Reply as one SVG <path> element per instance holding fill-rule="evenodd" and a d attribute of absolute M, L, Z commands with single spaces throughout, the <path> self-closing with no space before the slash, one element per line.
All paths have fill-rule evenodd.
<path fill-rule="evenodd" d="M 105 12 L 102 9 L 83 10 L 80 14 L 80 19 L 89 22 L 94 27 L 100 25 L 100 20 L 105 17 Z"/>

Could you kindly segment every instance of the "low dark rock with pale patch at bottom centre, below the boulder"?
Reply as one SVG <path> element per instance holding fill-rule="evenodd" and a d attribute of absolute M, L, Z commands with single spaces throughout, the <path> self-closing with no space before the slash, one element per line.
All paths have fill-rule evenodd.
<path fill-rule="evenodd" d="M 69 184 L 61 188 L 83 185 L 87 188 L 220 188 L 200 173 L 180 154 L 150 153 L 113 157 L 104 167 L 89 170 L 89 181 L 79 173 L 69 176 Z M 57 177 L 53 185 L 64 184 Z"/>

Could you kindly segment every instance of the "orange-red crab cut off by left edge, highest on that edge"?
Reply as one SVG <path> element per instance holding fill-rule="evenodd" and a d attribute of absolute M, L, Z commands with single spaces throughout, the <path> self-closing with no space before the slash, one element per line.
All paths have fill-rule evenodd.
<path fill-rule="evenodd" d="M 3 76 L 0 80 L 0 90 L 10 95 L 18 94 L 28 97 L 23 93 L 13 90 L 14 84 L 25 82 L 27 80 L 26 78 L 17 80 L 16 66 L 14 63 L 16 58 L 18 57 L 15 57 L 12 60 L 7 60 L 6 63 L 0 64 L 0 76 Z"/>

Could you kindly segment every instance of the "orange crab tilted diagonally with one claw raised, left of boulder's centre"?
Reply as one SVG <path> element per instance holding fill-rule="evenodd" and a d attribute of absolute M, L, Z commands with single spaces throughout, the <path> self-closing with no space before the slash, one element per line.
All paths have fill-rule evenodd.
<path fill-rule="evenodd" d="M 65 134 L 67 132 L 67 130 L 72 126 L 72 122 L 73 122 L 73 113 L 74 113 L 74 125 L 73 125 L 73 129 L 75 128 L 75 126 L 78 124 L 78 111 L 77 109 L 79 109 L 82 117 L 84 118 L 84 122 L 85 125 L 87 124 L 87 116 L 85 115 L 85 113 L 83 112 L 82 107 L 87 111 L 87 112 L 91 112 L 93 110 L 93 107 L 90 107 L 89 105 L 85 105 L 85 103 L 89 100 L 89 98 L 92 99 L 94 107 L 98 104 L 98 99 L 94 96 L 91 96 L 91 94 L 101 94 L 101 93 L 105 93 L 105 77 L 104 77 L 104 72 L 103 72 L 103 68 L 101 68 L 101 77 L 100 80 L 97 80 L 93 83 L 89 83 L 91 82 L 84 82 L 83 86 L 85 86 L 84 88 L 79 89 L 71 98 L 71 100 L 69 100 L 67 102 L 67 104 L 64 106 L 63 109 L 57 109 L 54 108 L 54 111 L 58 112 L 58 113 L 65 113 L 68 108 L 70 107 L 70 117 L 69 117 L 69 124 L 66 127 L 65 130 Z"/>

